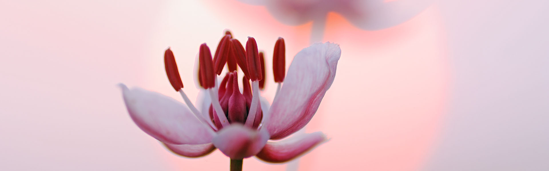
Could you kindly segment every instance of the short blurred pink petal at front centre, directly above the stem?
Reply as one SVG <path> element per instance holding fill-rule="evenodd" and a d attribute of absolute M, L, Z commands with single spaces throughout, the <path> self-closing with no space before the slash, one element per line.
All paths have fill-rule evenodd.
<path fill-rule="evenodd" d="M 218 133 L 212 142 L 225 156 L 232 159 L 256 155 L 269 139 L 265 129 L 254 130 L 238 123 L 224 127 Z"/>

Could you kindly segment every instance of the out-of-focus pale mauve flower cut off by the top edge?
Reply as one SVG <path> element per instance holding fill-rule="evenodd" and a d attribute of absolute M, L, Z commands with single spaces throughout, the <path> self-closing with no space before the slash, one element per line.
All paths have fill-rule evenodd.
<path fill-rule="evenodd" d="M 328 12 L 343 15 L 362 30 L 380 30 L 405 22 L 429 7 L 432 0 L 239 0 L 265 5 L 284 24 L 302 25 L 311 20 L 324 22 Z"/>

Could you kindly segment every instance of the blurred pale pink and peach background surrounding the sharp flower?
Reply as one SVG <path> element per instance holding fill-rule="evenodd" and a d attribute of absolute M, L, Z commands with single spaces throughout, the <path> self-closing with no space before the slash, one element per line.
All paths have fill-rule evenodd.
<path fill-rule="evenodd" d="M 335 81 L 302 130 L 331 140 L 290 164 L 245 159 L 245 170 L 549 170 L 549 2 L 357 0 L 367 4 L 357 12 L 377 11 L 355 18 L 337 5 L 351 1 L 300 2 L 339 11 L 0 2 L 0 170 L 226 170 L 219 151 L 187 159 L 165 150 L 133 124 L 116 87 L 180 99 L 164 71 L 170 46 L 195 99 L 199 44 L 215 47 L 226 28 L 265 50 L 267 99 L 277 37 L 287 65 L 311 42 L 341 47 Z M 292 10 L 316 6 L 305 7 Z"/>

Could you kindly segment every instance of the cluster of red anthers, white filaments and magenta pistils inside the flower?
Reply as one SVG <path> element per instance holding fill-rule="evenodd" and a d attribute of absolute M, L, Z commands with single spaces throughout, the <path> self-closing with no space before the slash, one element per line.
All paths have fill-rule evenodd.
<path fill-rule="evenodd" d="M 171 49 L 167 49 L 164 55 L 166 74 L 172 87 L 181 93 L 195 116 L 215 130 L 220 130 L 231 123 L 242 123 L 244 126 L 257 129 L 265 118 L 266 113 L 262 112 L 259 102 L 259 90 L 265 87 L 264 53 L 259 52 L 253 37 L 248 37 L 245 47 L 244 49 L 229 31 L 226 31 L 221 38 L 213 59 L 208 45 L 206 43 L 200 45 L 198 82 L 200 87 L 208 90 L 212 99 L 209 111 L 203 111 L 209 112 L 209 115 L 202 115 L 183 93 L 183 83 Z M 273 73 L 275 73 L 275 82 L 278 83 L 277 93 L 284 79 L 284 50 L 284 39 L 279 37 L 273 53 Z M 221 75 L 225 64 L 228 72 L 217 87 L 216 77 Z M 238 84 L 238 68 L 244 73 L 242 93 Z"/>

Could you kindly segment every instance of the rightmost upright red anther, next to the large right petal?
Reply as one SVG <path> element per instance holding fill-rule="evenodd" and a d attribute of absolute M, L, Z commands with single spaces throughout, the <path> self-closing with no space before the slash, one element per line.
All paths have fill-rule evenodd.
<path fill-rule="evenodd" d="M 284 81 L 285 75 L 285 60 L 286 50 L 284 45 L 284 38 L 278 37 L 275 44 L 275 51 L 273 52 L 273 75 L 275 76 L 275 82 L 281 83 Z"/>

